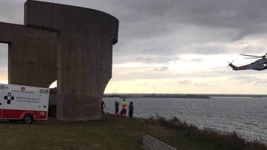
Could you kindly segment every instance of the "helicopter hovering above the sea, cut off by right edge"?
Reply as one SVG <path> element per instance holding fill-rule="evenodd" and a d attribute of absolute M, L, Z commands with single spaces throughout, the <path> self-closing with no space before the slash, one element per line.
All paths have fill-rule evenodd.
<path fill-rule="evenodd" d="M 245 54 L 239 54 L 239 55 L 243 55 L 243 56 L 249 56 L 251 58 L 245 58 L 245 59 L 255 59 L 255 58 L 261 58 L 259 60 L 256 60 L 255 62 L 252 62 L 251 64 L 248 64 L 248 65 L 244 65 L 244 66 L 240 66 L 240 67 L 237 67 L 235 65 L 233 65 L 232 62 L 228 62 L 229 65 L 231 68 L 233 68 L 233 70 L 237 71 L 237 70 L 248 70 L 248 69 L 251 69 L 251 70 L 258 70 L 258 71 L 261 71 L 261 70 L 265 70 L 267 69 L 267 58 L 266 58 L 266 55 L 263 55 L 263 56 L 254 56 L 254 55 L 245 55 Z"/>

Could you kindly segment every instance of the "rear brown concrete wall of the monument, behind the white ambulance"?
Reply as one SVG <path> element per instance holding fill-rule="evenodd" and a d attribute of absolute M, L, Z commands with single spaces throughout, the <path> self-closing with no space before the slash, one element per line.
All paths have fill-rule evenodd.
<path fill-rule="evenodd" d="M 56 33 L 0 22 L 8 43 L 8 83 L 49 87 L 56 80 Z"/>

